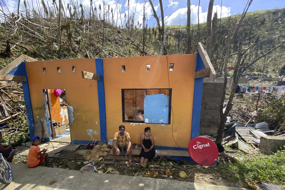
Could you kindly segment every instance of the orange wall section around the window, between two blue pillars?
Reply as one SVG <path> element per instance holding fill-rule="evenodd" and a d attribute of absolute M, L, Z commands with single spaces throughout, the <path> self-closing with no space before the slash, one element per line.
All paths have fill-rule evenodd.
<path fill-rule="evenodd" d="M 174 63 L 173 71 L 168 71 L 169 63 Z M 151 65 L 150 71 L 146 71 L 147 64 Z M 122 65 L 126 65 L 126 72 L 122 72 Z M 155 145 L 187 148 L 191 139 L 195 65 L 196 54 L 104 58 L 107 140 L 114 137 L 119 125 L 125 125 L 132 143 L 140 144 L 140 135 L 149 126 Z M 121 89 L 125 88 L 172 88 L 170 125 L 123 123 Z"/>

